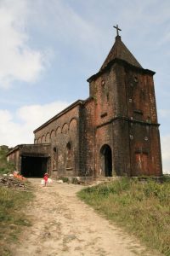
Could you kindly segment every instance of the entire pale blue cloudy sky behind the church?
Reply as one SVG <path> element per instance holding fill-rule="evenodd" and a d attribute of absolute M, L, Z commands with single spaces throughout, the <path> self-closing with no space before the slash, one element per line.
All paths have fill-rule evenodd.
<path fill-rule="evenodd" d="M 33 143 L 33 131 L 88 97 L 122 28 L 124 44 L 156 72 L 164 172 L 170 172 L 170 1 L 0 0 L 0 145 Z"/>

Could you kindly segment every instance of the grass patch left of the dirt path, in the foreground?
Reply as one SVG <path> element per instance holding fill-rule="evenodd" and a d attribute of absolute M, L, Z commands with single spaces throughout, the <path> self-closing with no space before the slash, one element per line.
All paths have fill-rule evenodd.
<path fill-rule="evenodd" d="M 8 245 L 17 242 L 23 226 L 31 225 L 22 211 L 31 198 L 29 191 L 0 187 L 0 255 L 11 255 Z"/>

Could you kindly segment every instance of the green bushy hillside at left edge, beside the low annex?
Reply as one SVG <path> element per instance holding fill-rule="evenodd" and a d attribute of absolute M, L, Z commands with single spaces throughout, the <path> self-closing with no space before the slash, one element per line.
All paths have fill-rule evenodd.
<path fill-rule="evenodd" d="M 14 172 L 14 164 L 7 162 L 8 150 L 8 146 L 0 146 L 0 174 Z"/>

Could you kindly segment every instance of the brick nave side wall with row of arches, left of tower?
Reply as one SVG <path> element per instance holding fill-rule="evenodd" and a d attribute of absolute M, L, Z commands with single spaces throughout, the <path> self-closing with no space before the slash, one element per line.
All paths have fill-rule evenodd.
<path fill-rule="evenodd" d="M 79 115 L 77 105 L 35 133 L 35 143 L 51 143 L 54 177 L 79 176 Z"/>

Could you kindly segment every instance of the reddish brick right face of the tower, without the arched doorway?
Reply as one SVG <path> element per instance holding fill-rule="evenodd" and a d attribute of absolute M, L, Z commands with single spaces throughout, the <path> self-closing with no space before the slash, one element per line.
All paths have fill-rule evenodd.
<path fill-rule="evenodd" d="M 162 174 L 153 73 L 125 67 L 131 175 Z"/>

